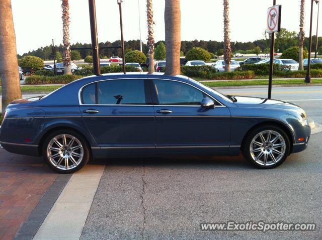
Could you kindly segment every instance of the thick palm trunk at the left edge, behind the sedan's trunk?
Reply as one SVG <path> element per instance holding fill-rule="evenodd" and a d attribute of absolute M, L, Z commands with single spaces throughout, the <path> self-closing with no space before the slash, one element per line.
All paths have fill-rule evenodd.
<path fill-rule="evenodd" d="M 0 23 L 0 74 L 4 113 L 11 101 L 21 98 L 11 0 L 0 1 Z"/>

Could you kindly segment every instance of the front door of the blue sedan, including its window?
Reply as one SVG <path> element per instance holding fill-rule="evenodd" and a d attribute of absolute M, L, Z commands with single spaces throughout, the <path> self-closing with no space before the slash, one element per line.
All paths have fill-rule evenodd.
<path fill-rule="evenodd" d="M 155 111 L 156 149 L 168 151 L 227 151 L 230 112 L 214 100 L 215 108 L 201 107 L 200 89 L 175 80 L 150 84 Z"/>

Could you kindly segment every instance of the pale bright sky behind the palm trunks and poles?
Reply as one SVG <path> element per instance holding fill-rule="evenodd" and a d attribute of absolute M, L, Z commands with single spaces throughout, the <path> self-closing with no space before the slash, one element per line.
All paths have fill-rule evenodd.
<path fill-rule="evenodd" d="M 305 5 L 305 33 L 309 33 L 310 2 Z M 299 31 L 300 0 L 277 0 L 282 5 L 281 27 Z M 17 52 L 35 50 L 62 43 L 60 0 L 12 0 Z M 272 0 L 230 0 L 230 39 L 248 42 L 264 38 L 267 8 Z M 69 0 L 70 42 L 91 43 L 88 0 Z M 141 39 L 146 42 L 146 0 L 123 0 L 124 40 Z M 165 0 L 153 0 L 154 38 L 165 39 Z M 140 18 L 139 18 L 140 10 Z M 119 11 L 116 0 L 96 0 L 99 42 L 120 39 Z M 317 5 L 313 9 L 313 31 L 316 31 Z M 139 25 L 140 20 L 140 25 Z M 319 36 L 322 35 L 322 17 Z M 223 0 L 181 0 L 181 40 L 223 41 Z"/>

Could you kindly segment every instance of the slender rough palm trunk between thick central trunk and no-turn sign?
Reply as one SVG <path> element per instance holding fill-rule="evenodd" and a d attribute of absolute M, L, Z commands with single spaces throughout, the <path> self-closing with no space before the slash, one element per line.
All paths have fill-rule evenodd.
<path fill-rule="evenodd" d="M 223 0 L 223 59 L 225 60 L 225 71 L 230 72 L 231 47 L 230 47 L 230 26 L 229 26 L 229 0 Z"/>

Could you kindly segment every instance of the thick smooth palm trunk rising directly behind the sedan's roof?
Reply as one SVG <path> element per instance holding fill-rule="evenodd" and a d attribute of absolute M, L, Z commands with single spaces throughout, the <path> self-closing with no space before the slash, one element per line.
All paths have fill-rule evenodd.
<path fill-rule="evenodd" d="M 180 0 L 166 0 L 166 75 L 180 74 L 181 11 Z"/>

